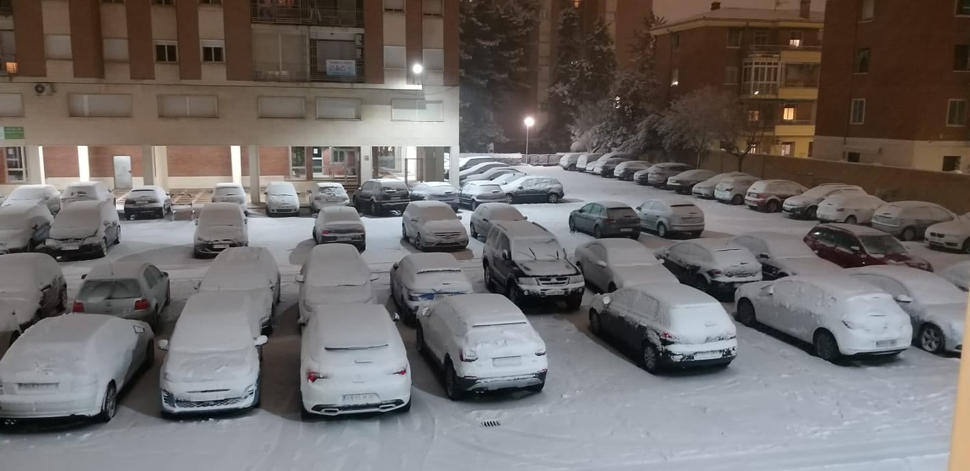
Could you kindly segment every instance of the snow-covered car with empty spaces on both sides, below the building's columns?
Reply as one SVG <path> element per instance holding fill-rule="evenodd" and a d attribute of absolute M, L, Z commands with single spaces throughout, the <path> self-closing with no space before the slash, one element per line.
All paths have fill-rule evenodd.
<path fill-rule="evenodd" d="M 249 245 L 248 220 L 235 203 L 207 203 L 195 220 L 193 255 L 197 259 L 215 257 L 229 247 Z"/>

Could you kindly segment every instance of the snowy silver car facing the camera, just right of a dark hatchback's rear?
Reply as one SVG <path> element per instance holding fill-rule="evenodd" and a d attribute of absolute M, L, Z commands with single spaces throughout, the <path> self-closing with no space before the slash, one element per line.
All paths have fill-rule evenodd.
<path fill-rule="evenodd" d="M 464 249 L 469 233 L 461 219 L 448 204 L 411 202 L 401 216 L 401 238 L 421 251 Z"/>

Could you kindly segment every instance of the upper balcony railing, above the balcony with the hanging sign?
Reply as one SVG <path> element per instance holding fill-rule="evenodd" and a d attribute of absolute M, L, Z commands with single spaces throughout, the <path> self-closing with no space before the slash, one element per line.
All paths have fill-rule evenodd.
<path fill-rule="evenodd" d="M 252 22 L 254 23 L 306 24 L 342 28 L 364 27 L 364 12 L 362 10 L 320 8 L 317 6 L 318 2 L 314 0 L 292 2 L 289 5 L 267 3 L 265 0 L 252 0 L 251 5 Z"/>

